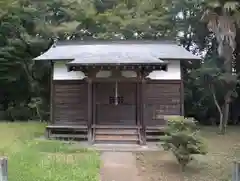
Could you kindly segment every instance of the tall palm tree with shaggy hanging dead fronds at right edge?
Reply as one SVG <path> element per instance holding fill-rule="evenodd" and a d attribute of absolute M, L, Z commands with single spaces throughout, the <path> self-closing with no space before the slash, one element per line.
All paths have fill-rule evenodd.
<path fill-rule="evenodd" d="M 202 20 L 207 22 L 208 29 L 218 42 L 219 57 L 224 59 L 225 72 L 232 73 L 233 53 L 236 48 L 236 32 L 240 28 L 240 3 L 229 0 L 210 0 Z M 223 119 L 219 129 L 225 133 L 229 117 L 229 103 L 233 90 L 227 91 L 224 97 Z"/>

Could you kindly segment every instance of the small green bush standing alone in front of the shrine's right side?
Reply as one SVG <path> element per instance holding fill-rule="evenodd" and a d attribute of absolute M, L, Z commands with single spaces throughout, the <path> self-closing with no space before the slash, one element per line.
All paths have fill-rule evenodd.
<path fill-rule="evenodd" d="M 184 170 L 194 154 L 206 154 L 206 147 L 198 135 L 194 119 L 168 117 L 167 121 L 167 136 L 163 139 L 163 148 L 172 151 Z"/>

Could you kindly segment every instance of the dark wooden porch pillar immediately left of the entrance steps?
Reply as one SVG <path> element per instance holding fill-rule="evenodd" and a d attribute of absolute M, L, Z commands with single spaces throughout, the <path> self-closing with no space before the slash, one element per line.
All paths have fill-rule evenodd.
<path fill-rule="evenodd" d="M 92 121 L 93 121 L 92 80 L 88 78 L 87 82 L 88 82 L 88 142 L 92 143 Z"/>

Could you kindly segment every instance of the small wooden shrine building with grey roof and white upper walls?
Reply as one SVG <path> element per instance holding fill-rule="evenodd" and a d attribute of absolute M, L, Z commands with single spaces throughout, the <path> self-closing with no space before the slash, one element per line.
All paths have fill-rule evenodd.
<path fill-rule="evenodd" d="M 183 115 L 181 61 L 168 41 L 62 42 L 35 58 L 52 62 L 50 138 L 146 144 L 166 115 Z"/>

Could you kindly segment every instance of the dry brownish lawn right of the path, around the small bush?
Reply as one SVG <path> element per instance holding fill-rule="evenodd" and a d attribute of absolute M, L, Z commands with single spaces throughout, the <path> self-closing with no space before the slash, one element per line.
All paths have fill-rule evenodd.
<path fill-rule="evenodd" d="M 232 164 L 240 160 L 240 127 L 229 127 L 226 135 L 218 135 L 217 128 L 203 127 L 202 136 L 208 154 L 198 156 L 184 174 L 169 152 L 138 153 L 137 161 L 144 181 L 230 181 Z"/>

